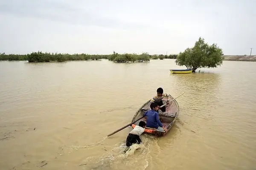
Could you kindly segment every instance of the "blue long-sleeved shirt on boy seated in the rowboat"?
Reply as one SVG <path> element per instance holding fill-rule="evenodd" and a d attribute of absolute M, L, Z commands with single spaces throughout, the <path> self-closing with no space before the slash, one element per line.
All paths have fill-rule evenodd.
<path fill-rule="evenodd" d="M 155 110 L 146 111 L 143 116 L 147 116 L 146 127 L 158 128 L 158 126 L 163 127 L 163 124 L 160 122 L 158 113 Z"/>

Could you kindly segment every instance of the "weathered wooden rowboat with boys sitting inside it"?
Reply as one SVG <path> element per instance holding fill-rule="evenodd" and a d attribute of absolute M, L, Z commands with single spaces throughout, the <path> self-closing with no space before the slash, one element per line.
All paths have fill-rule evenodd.
<path fill-rule="evenodd" d="M 172 96 L 170 96 L 170 98 L 171 98 L 171 100 L 174 99 Z M 167 99 L 163 99 L 163 104 L 165 104 L 166 102 L 167 102 Z M 150 110 L 150 100 L 148 100 L 148 102 L 145 102 L 145 104 L 142 105 L 142 107 L 135 113 L 131 122 L 134 122 L 137 119 L 139 119 L 140 117 L 142 117 L 143 114 L 145 113 L 145 111 L 147 111 L 147 110 Z M 161 123 L 163 124 L 163 126 L 166 127 L 166 129 L 167 129 L 166 132 L 161 132 L 157 129 L 150 128 L 150 127 L 145 127 L 145 128 L 156 130 L 154 133 L 152 133 L 155 136 L 164 136 L 172 128 L 172 125 L 174 124 L 174 122 L 176 121 L 176 119 L 179 115 L 179 111 L 180 111 L 179 105 L 176 100 L 173 100 L 172 102 L 169 103 L 169 105 L 166 105 L 165 112 L 162 112 L 159 109 L 159 111 L 158 111 L 159 119 L 160 119 Z M 137 122 L 135 122 L 134 124 L 139 125 L 140 121 L 146 122 L 146 118 L 144 117 L 144 118 L 138 120 Z"/>

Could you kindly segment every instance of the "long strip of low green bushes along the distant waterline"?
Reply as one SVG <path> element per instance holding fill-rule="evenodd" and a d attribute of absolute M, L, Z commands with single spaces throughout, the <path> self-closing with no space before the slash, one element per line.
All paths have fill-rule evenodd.
<path fill-rule="evenodd" d="M 113 54 L 108 55 L 90 55 L 90 54 L 60 54 L 60 53 L 42 53 L 41 51 L 32 52 L 31 54 L 5 54 L 0 53 L 0 60 L 18 61 L 27 60 L 29 62 L 64 62 L 72 60 L 99 60 L 109 59 L 113 62 L 148 62 L 150 59 L 175 59 L 177 55 L 149 55 L 143 54 Z"/>

